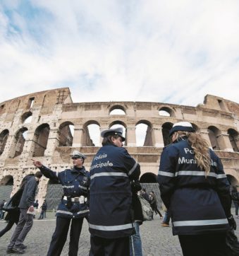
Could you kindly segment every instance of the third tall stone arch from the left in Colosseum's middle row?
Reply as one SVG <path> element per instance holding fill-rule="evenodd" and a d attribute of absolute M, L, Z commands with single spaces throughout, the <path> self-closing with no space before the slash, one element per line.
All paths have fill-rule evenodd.
<path fill-rule="evenodd" d="M 44 151 L 47 149 L 49 132 L 49 124 L 40 124 L 37 127 L 33 136 L 33 156 L 44 156 Z"/>

